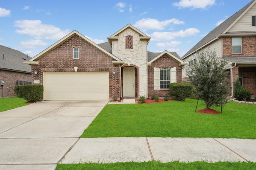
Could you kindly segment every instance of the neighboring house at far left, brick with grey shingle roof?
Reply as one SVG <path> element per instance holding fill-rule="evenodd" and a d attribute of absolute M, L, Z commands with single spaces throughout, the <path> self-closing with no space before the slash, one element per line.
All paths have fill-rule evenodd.
<path fill-rule="evenodd" d="M 4 85 L 0 86 L 0 98 L 16 96 L 14 86 L 17 80 L 31 83 L 31 66 L 23 63 L 30 59 L 20 51 L 0 45 L 0 82 L 4 81 Z"/>

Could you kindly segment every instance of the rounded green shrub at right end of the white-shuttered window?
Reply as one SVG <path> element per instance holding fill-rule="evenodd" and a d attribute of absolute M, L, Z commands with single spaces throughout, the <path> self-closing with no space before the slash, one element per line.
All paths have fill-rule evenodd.
<path fill-rule="evenodd" d="M 170 83 L 170 95 L 175 100 L 185 100 L 192 94 L 192 85 L 189 83 Z"/>

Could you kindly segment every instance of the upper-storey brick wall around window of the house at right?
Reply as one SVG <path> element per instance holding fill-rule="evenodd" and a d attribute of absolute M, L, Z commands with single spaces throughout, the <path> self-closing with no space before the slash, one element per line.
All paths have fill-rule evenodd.
<path fill-rule="evenodd" d="M 222 43 L 223 57 L 255 56 L 256 54 L 256 37 L 242 37 L 241 54 L 232 54 L 232 37 L 223 37 Z"/>

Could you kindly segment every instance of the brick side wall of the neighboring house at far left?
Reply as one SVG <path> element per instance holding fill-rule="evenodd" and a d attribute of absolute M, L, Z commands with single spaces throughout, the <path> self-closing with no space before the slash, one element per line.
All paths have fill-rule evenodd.
<path fill-rule="evenodd" d="M 0 70 L 0 81 L 4 81 L 4 98 L 15 97 L 14 87 L 17 80 L 31 82 L 30 73 L 14 72 L 8 70 Z M 3 86 L 0 86 L 0 98 L 3 97 Z"/>

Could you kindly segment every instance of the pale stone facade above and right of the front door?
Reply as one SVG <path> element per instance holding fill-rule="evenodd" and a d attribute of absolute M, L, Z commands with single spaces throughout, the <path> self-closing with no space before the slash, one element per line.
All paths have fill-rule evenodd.
<path fill-rule="evenodd" d="M 126 49 L 126 36 L 132 36 L 133 49 Z M 131 28 L 127 28 L 118 35 L 117 41 L 112 41 L 112 54 L 127 66 L 137 66 L 139 69 L 138 95 L 144 96 L 147 92 L 147 41 L 140 40 L 140 35 Z"/>

